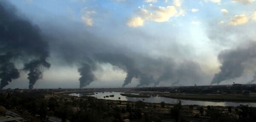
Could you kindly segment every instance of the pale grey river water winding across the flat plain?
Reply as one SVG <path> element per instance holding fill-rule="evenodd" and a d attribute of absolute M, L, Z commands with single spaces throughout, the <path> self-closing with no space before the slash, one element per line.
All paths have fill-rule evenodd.
<path fill-rule="evenodd" d="M 174 104 L 177 103 L 178 99 L 159 97 L 159 96 L 151 96 L 149 98 L 138 98 L 138 97 L 126 97 L 120 95 L 122 92 L 96 92 L 94 95 L 87 95 L 91 97 L 96 97 L 97 99 L 105 99 L 105 100 L 122 100 L 122 101 L 133 101 L 136 102 L 138 100 L 142 100 L 147 103 L 161 103 L 162 101 L 165 103 Z M 71 96 L 81 97 L 82 94 L 72 93 L 69 94 Z M 114 97 L 105 97 L 109 95 L 114 95 Z M 105 97 L 105 98 L 104 98 Z M 120 99 L 119 99 L 120 97 Z M 143 100 L 144 99 L 144 100 Z M 239 106 L 239 105 L 250 105 L 256 107 L 256 103 L 234 103 L 234 102 L 209 102 L 209 101 L 195 101 L 195 100 L 181 100 L 182 105 L 212 105 L 212 106 Z"/>

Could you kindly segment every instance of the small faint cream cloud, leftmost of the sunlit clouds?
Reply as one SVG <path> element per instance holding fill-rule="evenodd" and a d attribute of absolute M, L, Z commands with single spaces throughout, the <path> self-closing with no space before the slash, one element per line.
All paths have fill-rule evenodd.
<path fill-rule="evenodd" d="M 96 11 L 89 10 L 87 7 L 81 9 L 81 19 L 84 22 L 84 24 L 93 26 L 93 14 L 95 14 Z"/>

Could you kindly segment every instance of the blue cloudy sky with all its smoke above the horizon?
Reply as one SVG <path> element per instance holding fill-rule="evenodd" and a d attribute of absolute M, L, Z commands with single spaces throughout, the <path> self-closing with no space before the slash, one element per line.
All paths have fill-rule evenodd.
<path fill-rule="evenodd" d="M 0 5 L 3 89 L 256 80 L 256 0 L 1 0 Z"/>

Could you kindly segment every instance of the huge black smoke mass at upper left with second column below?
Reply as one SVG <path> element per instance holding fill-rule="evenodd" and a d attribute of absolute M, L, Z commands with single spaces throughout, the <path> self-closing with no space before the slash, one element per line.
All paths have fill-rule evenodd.
<path fill-rule="evenodd" d="M 24 64 L 24 70 L 29 71 L 29 88 L 32 88 L 36 80 L 42 78 L 41 67 L 50 67 L 46 61 L 49 56 L 48 44 L 41 39 L 39 28 L 20 17 L 16 8 L 4 0 L 0 1 L 0 44 L 0 53 L 4 55 L 13 55 L 14 59 L 26 61 L 32 59 L 31 62 Z M 9 60 L 5 61 L 1 63 L 1 67 L 8 64 L 8 67 L 5 67 L 6 70 L 14 72 L 3 73 L 1 79 L 5 80 L 4 82 L 6 82 L 6 78 L 7 81 L 11 81 L 19 74 L 13 63 L 10 63 Z M 16 77 L 8 76 L 12 73 Z M 1 86 L 5 86 L 5 84 L 2 85 L 1 82 Z"/>

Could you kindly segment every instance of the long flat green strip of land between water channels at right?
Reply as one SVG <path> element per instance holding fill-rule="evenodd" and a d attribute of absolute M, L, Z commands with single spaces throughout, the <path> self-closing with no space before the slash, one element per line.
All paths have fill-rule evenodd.
<path fill-rule="evenodd" d="M 251 101 L 256 102 L 256 97 L 243 94 L 168 94 L 160 97 L 186 99 L 186 100 L 215 100 L 215 101 Z"/>

